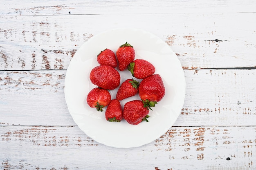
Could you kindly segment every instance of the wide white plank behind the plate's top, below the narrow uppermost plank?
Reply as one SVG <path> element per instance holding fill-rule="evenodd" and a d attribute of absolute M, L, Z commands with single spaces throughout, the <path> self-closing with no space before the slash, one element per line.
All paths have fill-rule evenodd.
<path fill-rule="evenodd" d="M 159 36 L 184 69 L 256 67 L 256 20 L 245 18 L 256 13 L 0 16 L 0 70 L 67 69 L 84 42 L 116 27 Z"/>

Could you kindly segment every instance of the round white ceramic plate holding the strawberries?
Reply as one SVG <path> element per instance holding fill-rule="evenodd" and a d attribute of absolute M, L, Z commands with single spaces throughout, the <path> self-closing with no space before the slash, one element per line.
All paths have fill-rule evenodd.
<path fill-rule="evenodd" d="M 105 119 L 106 108 L 97 112 L 86 103 L 88 92 L 97 87 L 89 78 L 92 68 L 99 65 L 97 55 L 106 48 L 116 52 L 126 41 L 134 47 L 135 59 L 148 60 L 155 66 L 155 73 L 160 74 L 166 88 L 162 101 L 149 112 L 149 122 L 138 125 L 130 125 L 124 119 L 120 123 L 108 122 Z M 121 83 L 132 78 L 127 70 L 119 73 Z M 110 91 L 112 99 L 117 89 Z M 93 36 L 76 51 L 65 78 L 65 99 L 75 123 L 95 141 L 115 148 L 139 147 L 162 136 L 179 116 L 184 96 L 184 73 L 177 56 L 163 40 L 141 29 L 112 29 Z M 139 96 L 127 98 L 121 101 L 121 105 L 134 99 L 139 99 Z"/>

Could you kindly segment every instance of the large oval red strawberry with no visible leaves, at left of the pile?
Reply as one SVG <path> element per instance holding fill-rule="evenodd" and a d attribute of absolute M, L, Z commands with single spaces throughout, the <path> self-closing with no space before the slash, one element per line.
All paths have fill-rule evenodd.
<path fill-rule="evenodd" d="M 109 65 L 99 65 L 90 72 L 90 80 L 94 85 L 112 90 L 120 85 L 120 74 Z"/>

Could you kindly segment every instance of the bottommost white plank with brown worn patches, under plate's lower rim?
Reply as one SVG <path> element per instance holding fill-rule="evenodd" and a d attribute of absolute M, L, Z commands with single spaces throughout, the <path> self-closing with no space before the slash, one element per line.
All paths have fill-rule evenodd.
<path fill-rule="evenodd" d="M 147 145 L 117 149 L 76 126 L 10 126 L 0 127 L 0 150 L 1 169 L 253 170 L 256 127 L 175 127 Z"/>

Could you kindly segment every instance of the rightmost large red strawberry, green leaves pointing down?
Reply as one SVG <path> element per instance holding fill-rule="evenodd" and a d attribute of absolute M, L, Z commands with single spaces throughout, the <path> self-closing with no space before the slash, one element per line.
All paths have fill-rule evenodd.
<path fill-rule="evenodd" d="M 144 78 L 139 84 L 139 97 L 144 103 L 144 107 L 152 110 L 158 101 L 161 101 L 165 94 L 163 80 L 159 74 L 153 74 Z"/>

